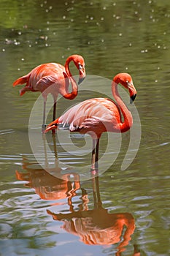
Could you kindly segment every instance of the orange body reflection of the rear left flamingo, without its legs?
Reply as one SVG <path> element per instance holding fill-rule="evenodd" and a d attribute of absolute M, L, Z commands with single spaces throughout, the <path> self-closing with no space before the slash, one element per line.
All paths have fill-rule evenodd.
<path fill-rule="evenodd" d="M 64 174 L 63 178 L 56 178 L 47 173 L 44 169 L 30 167 L 30 164 L 23 162 L 23 169 L 26 173 L 20 173 L 16 170 L 16 177 L 20 181 L 28 181 L 26 187 L 35 189 L 35 192 L 43 200 L 59 200 L 68 198 L 71 206 L 72 197 L 76 195 L 76 190 L 80 189 L 79 181 L 70 181 L 70 177 L 75 177 L 77 174 Z M 78 177 L 75 177 L 76 180 Z"/>

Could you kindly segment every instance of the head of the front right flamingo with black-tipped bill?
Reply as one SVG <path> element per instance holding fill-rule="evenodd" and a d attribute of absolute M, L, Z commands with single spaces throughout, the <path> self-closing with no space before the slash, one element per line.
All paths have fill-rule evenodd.
<path fill-rule="evenodd" d="M 121 83 L 125 89 L 128 89 L 131 97 L 130 103 L 134 102 L 134 99 L 136 98 L 136 89 L 134 87 L 131 75 L 128 73 L 119 73 L 115 76 L 115 78 L 113 78 L 113 81 L 117 84 Z"/>

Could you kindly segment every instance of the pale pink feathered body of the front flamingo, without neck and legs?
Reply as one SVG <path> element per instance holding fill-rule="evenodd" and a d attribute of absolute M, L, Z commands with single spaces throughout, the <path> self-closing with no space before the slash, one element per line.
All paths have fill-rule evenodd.
<path fill-rule="evenodd" d="M 114 113 L 114 115 L 113 115 Z M 88 133 L 100 138 L 103 132 L 120 132 L 121 113 L 111 99 L 87 99 L 70 108 L 55 124 L 69 125 L 71 132 Z"/>

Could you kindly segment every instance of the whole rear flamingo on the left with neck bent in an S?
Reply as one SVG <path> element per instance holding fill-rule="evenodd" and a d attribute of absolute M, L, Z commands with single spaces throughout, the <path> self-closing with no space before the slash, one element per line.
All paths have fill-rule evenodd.
<path fill-rule="evenodd" d="M 63 65 L 58 63 L 41 64 L 31 70 L 27 75 L 18 78 L 13 86 L 26 83 L 26 86 L 20 90 L 20 96 L 26 91 L 40 91 L 44 99 L 43 123 L 42 131 L 45 129 L 45 106 L 47 102 L 47 94 L 53 94 L 53 121 L 55 120 L 56 101 L 60 93 L 66 99 L 74 99 L 77 96 L 77 83 L 72 77 L 69 69 L 69 63 L 73 61 L 80 73 L 78 84 L 85 79 L 85 61 L 80 55 L 72 55 L 66 59 Z M 72 84 L 72 92 L 69 93 L 69 83 Z"/>

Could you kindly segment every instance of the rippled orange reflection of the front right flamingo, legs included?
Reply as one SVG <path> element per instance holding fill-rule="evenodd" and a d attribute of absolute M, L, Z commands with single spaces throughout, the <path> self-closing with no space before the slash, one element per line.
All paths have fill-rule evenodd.
<path fill-rule="evenodd" d="M 120 256 L 125 246 L 131 240 L 135 230 L 134 217 L 129 213 L 109 214 L 107 209 L 102 207 L 98 177 L 93 181 L 94 208 L 88 210 L 88 198 L 82 196 L 82 206 L 79 211 L 72 211 L 69 214 L 55 214 L 47 209 L 47 214 L 53 219 L 63 222 L 63 229 L 73 235 L 79 236 L 80 241 L 89 245 L 112 245 L 117 246 L 116 256 Z M 126 229 L 124 230 L 124 226 Z M 125 231 L 125 232 L 124 232 Z M 123 238 L 121 238 L 123 236 Z M 134 246 L 133 256 L 139 256 L 137 246 Z"/>

